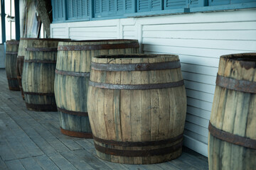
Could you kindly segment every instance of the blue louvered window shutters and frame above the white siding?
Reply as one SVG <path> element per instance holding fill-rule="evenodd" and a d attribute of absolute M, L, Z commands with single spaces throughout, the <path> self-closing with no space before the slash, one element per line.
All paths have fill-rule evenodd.
<path fill-rule="evenodd" d="M 256 8 L 256 0 L 52 0 L 53 22 Z"/>

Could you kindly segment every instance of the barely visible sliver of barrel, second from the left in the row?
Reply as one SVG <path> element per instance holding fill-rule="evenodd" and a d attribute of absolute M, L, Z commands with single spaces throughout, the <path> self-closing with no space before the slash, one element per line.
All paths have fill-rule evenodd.
<path fill-rule="evenodd" d="M 24 63 L 24 55 L 25 55 L 25 49 L 24 46 L 26 46 L 26 42 L 29 40 L 29 38 L 21 38 L 19 46 L 18 46 L 18 56 L 17 56 L 17 79 L 18 79 L 18 86 L 21 89 L 21 96 L 23 100 L 24 94 L 23 94 L 23 88 L 22 88 L 22 71 L 23 71 L 23 63 Z"/>

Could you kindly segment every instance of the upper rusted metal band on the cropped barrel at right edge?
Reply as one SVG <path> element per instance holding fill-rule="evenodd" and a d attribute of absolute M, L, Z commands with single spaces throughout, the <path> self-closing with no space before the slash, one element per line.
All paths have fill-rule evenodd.
<path fill-rule="evenodd" d="M 216 85 L 230 90 L 256 94 L 256 82 L 254 81 L 232 79 L 217 74 Z"/>

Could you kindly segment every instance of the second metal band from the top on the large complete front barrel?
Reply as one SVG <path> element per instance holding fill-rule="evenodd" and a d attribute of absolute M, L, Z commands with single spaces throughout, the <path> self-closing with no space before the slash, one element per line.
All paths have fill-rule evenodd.
<path fill-rule="evenodd" d="M 184 81 L 175 81 L 162 84 L 105 84 L 94 81 L 89 81 L 89 86 L 95 86 L 100 89 L 114 89 L 114 90 L 147 90 L 147 89 L 166 89 L 177 86 L 183 86 Z"/>

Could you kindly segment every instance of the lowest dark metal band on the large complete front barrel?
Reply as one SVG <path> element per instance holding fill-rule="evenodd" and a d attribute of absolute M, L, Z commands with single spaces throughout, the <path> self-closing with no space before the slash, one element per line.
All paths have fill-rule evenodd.
<path fill-rule="evenodd" d="M 159 149 L 143 149 L 143 150 L 125 150 L 125 149 L 111 149 L 102 147 L 95 143 L 95 149 L 105 154 L 112 154 L 122 157 L 151 157 L 155 155 L 171 154 L 181 149 L 182 141 L 171 147 L 164 147 Z"/>

